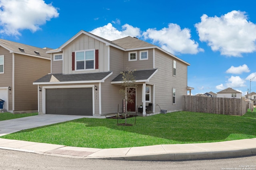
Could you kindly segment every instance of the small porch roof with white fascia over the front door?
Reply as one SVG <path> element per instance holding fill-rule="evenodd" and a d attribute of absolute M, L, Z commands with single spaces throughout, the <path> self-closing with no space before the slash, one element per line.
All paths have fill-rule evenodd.
<path fill-rule="evenodd" d="M 158 69 L 152 70 L 135 70 L 133 71 L 133 76 L 136 82 L 148 82 L 152 76 L 157 72 Z M 122 74 L 119 74 L 111 81 L 111 84 L 120 84 L 122 83 Z"/>

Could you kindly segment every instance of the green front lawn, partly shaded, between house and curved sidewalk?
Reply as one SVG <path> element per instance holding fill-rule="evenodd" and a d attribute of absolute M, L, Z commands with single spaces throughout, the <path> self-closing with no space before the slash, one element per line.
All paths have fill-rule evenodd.
<path fill-rule="evenodd" d="M 134 119 L 127 123 L 134 124 Z M 2 138 L 102 149 L 256 138 L 256 110 L 243 116 L 178 111 L 137 117 L 133 126 L 116 123 L 116 119 L 82 118 Z"/>

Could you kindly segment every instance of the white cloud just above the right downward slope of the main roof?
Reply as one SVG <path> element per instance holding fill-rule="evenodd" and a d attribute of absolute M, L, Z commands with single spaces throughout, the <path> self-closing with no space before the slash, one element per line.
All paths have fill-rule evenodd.
<path fill-rule="evenodd" d="M 145 39 L 152 39 L 153 43 L 158 43 L 160 47 L 170 53 L 196 54 L 203 49 L 198 47 L 198 43 L 190 39 L 190 29 L 181 29 L 179 25 L 169 23 L 168 28 L 161 30 L 147 29 L 143 36 Z"/>

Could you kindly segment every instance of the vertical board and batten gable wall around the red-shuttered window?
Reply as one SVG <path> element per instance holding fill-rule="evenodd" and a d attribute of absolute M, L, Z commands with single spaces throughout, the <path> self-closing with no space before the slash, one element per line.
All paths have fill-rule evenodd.
<path fill-rule="evenodd" d="M 72 52 L 88 49 L 99 50 L 99 68 L 90 71 L 72 70 Z M 97 39 L 82 34 L 63 49 L 63 62 L 64 74 L 82 74 L 88 72 L 108 71 L 108 46 Z"/>

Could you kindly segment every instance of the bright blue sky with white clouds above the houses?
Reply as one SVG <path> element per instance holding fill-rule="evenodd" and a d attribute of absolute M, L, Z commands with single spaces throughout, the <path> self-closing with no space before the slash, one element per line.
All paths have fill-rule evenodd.
<path fill-rule="evenodd" d="M 81 29 L 109 40 L 136 36 L 191 64 L 193 95 L 228 87 L 245 95 L 256 75 L 255 6 L 254 0 L 0 0 L 0 38 L 58 48 Z"/>

